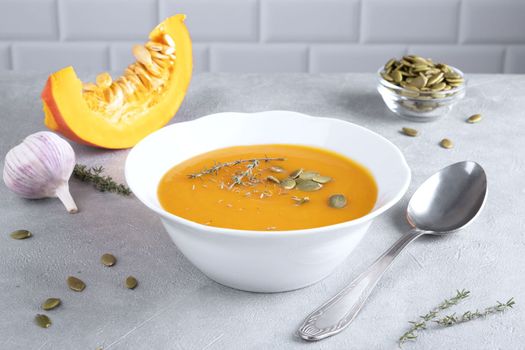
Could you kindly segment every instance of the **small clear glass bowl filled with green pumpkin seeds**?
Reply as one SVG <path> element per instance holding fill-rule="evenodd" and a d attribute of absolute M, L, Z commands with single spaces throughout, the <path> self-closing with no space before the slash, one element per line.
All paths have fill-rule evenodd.
<path fill-rule="evenodd" d="M 465 96 L 463 72 L 416 55 L 390 59 L 378 70 L 381 94 L 388 109 L 412 121 L 433 121 L 446 115 Z"/>

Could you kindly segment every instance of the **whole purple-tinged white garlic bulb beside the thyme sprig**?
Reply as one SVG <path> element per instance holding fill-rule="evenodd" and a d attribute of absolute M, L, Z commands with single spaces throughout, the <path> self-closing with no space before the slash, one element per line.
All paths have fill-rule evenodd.
<path fill-rule="evenodd" d="M 37 132 L 5 156 L 4 182 L 24 198 L 58 197 L 68 212 L 76 213 L 68 184 L 74 167 L 75 152 L 69 143 L 52 132 Z"/>

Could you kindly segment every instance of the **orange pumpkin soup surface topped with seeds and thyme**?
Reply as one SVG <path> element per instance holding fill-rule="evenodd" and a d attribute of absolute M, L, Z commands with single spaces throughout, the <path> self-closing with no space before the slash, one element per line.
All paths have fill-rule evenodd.
<path fill-rule="evenodd" d="M 368 214 L 377 186 L 365 167 L 335 152 L 253 145 L 218 149 L 177 164 L 160 181 L 158 197 L 166 211 L 204 225 L 297 230 Z"/>

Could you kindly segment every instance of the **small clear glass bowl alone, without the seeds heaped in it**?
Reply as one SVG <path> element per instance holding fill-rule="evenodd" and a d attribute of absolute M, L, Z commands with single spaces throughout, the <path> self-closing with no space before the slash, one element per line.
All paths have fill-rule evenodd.
<path fill-rule="evenodd" d="M 464 79 L 464 83 L 454 89 L 438 92 L 408 90 L 383 79 L 381 76 L 383 67 L 381 67 L 377 71 L 379 77 L 377 91 L 388 109 L 398 116 L 417 122 L 434 121 L 446 115 L 452 106 L 465 96 L 467 88 L 465 75 L 459 69 L 449 67 Z"/>

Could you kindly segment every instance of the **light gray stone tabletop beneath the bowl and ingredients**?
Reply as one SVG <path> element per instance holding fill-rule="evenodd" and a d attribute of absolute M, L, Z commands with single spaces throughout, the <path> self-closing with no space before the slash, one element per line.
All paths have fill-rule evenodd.
<path fill-rule="evenodd" d="M 44 130 L 39 74 L 0 75 L 0 166 L 6 152 Z M 210 113 L 293 110 L 348 120 L 385 136 L 413 171 L 407 195 L 378 218 L 358 249 L 331 276 L 301 290 L 255 294 L 214 283 L 193 267 L 137 199 L 99 193 L 71 180 L 80 212 L 56 200 L 23 200 L 0 184 L 0 349 L 395 349 L 396 340 L 444 298 L 466 288 L 462 312 L 514 296 L 515 309 L 447 329 L 431 326 L 406 349 L 525 348 L 525 76 L 472 75 L 466 98 L 444 119 L 415 124 L 396 118 L 371 74 L 195 76 L 172 122 Z M 481 123 L 465 118 L 482 113 Z M 399 133 L 413 126 L 421 136 Z M 276 125 L 276 128 L 279 126 Z M 220 132 L 220 130 L 217 130 Z M 292 132 L 292 131 L 291 131 Z M 456 147 L 445 150 L 448 137 Z M 127 151 L 74 145 L 78 160 L 103 165 L 123 181 Z M 409 196 L 425 178 L 460 160 L 475 160 L 489 178 L 487 205 L 461 233 L 422 238 L 400 256 L 344 333 L 305 343 L 294 332 L 303 318 L 356 277 L 407 229 Z M 25 241 L 9 232 L 27 228 Z M 105 268 L 103 253 L 118 263 Z M 137 289 L 123 287 L 127 275 Z M 87 283 L 67 289 L 66 277 Z M 47 312 L 48 329 L 33 322 L 47 297 L 63 305 Z"/>

